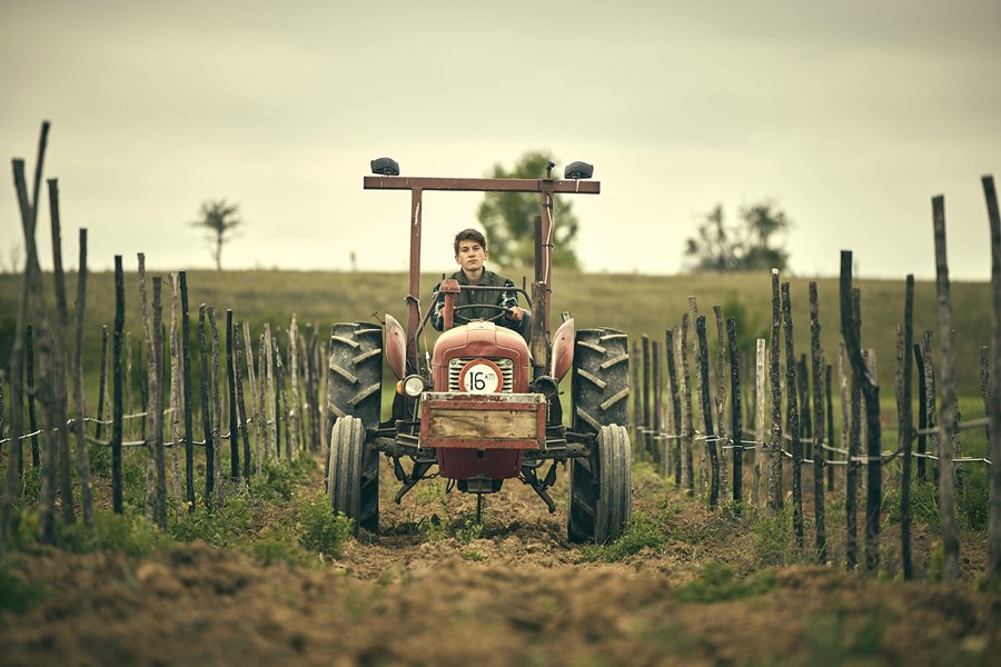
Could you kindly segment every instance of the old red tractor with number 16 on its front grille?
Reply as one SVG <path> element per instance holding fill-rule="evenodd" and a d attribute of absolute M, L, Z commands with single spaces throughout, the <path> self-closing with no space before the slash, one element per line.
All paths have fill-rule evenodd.
<path fill-rule="evenodd" d="M 329 346 L 327 491 L 331 507 L 355 530 L 378 529 L 379 459 L 386 456 L 400 487 L 396 502 L 423 479 L 438 475 L 448 489 L 476 494 L 477 521 L 485 494 L 505 479 L 531 486 L 549 511 L 548 489 L 559 464 L 569 466 L 567 531 L 576 542 L 604 544 L 622 535 L 631 511 L 628 341 L 608 328 L 574 328 L 564 316 L 549 331 L 552 211 L 555 193 L 592 193 L 592 167 L 568 165 L 564 179 L 406 178 L 393 160 L 373 160 L 365 188 L 410 190 L 410 269 L 407 329 L 392 316 L 385 326 L 347 322 L 333 327 Z M 535 280 L 528 342 L 495 321 L 465 321 L 454 305 L 462 289 L 443 281 L 445 330 L 433 354 L 418 354 L 432 306 L 422 308 L 420 213 L 424 190 L 537 192 Z M 482 287 L 478 289 L 490 289 Z M 384 356 L 398 378 L 392 415 L 381 420 Z M 572 375 L 573 414 L 564 424 L 558 385 Z M 435 468 L 437 470 L 435 471 Z"/>

